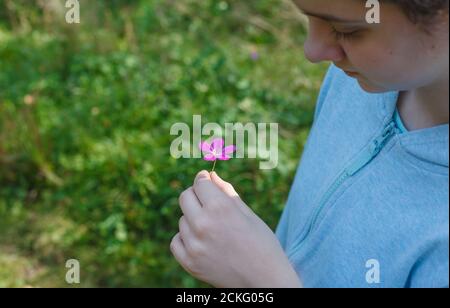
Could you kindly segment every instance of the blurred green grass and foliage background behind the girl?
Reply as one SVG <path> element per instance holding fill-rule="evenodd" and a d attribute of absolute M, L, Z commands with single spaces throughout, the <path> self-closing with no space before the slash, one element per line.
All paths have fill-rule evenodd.
<path fill-rule="evenodd" d="M 0 287 L 198 287 L 170 254 L 201 159 L 170 127 L 277 122 L 279 165 L 217 165 L 275 228 L 324 65 L 289 0 L 0 0 Z"/>

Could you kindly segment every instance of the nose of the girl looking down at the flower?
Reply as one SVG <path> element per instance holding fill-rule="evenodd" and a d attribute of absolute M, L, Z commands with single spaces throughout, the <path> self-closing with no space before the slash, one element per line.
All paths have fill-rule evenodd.
<path fill-rule="evenodd" d="M 330 26 L 322 21 L 310 20 L 308 38 L 304 44 L 305 56 L 312 63 L 341 62 L 345 52 L 332 35 Z"/>

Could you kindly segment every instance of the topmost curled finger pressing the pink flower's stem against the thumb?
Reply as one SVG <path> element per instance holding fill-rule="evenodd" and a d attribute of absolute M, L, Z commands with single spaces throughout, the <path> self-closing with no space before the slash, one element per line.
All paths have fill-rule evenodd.
<path fill-rule="evenodd" d="M 228 197 L 212 182 L 207 171 L 201 171 L 197 174 L 194 180 L 194 192 L 203 206 L 219 206 L 220 200 Z"/>

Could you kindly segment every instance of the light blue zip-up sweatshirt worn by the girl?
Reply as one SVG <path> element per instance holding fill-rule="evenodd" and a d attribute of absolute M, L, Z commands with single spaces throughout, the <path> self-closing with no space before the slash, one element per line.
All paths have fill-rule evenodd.
<path fill-rule="evenodd" d="M 449 126 L 331 66 L 277 236 L 305 287 L 449 286 Z"/>

